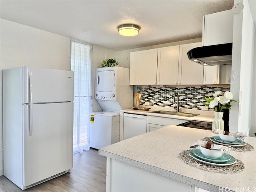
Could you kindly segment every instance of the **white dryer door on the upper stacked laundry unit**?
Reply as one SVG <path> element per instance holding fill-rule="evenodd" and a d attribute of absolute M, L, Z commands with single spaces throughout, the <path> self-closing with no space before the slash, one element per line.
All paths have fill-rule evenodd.
<path fill-rule="evenodd" d="M 115 88 L 115 71 L 106 70 L 96 72 L 96 90 L 100 92 L 113 92 Z"/>

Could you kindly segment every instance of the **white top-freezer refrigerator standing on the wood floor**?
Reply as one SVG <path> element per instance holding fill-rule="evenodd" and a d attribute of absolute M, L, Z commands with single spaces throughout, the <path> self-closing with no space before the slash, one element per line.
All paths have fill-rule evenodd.
<path fill-rule="evenodd" d="M 4 176 L 22 190 L 73 167 L 72 71 L 3 70 Z"/>

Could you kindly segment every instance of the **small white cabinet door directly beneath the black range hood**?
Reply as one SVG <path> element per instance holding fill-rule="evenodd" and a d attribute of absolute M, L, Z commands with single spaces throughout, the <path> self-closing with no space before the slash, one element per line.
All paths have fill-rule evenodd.
<path fill-rule="evenodd" d="M 219 84 L 219 65 L 204 66 L 204 85 Z"/>

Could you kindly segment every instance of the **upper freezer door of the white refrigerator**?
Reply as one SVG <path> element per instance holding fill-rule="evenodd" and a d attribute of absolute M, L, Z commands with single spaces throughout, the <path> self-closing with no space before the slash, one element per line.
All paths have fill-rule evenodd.
<path fill-rule="evenodd" d="M 73 101 L 74 72 L 22 67 L 22 103 Z"/>

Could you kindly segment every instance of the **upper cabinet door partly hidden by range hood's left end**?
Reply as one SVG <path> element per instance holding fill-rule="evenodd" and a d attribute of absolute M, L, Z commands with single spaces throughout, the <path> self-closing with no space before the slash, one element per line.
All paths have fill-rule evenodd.
<path fill-rule="evenodd" d="M 202 85 L 204 66 L 190 61 L 187 52 L 202 46 L 202 42 L 180 45 L 178 84 Z"/>

